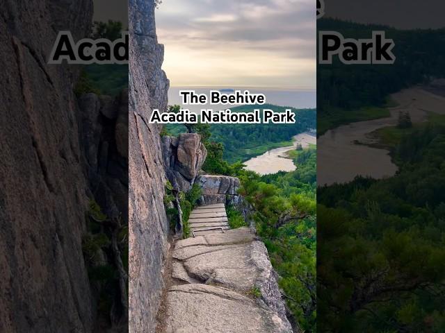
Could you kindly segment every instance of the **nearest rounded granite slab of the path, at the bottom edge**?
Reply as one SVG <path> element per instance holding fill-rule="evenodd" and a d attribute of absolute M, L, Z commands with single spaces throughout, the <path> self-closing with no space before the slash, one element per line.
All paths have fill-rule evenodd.
<path fill-rule="evenodd" d="M 229 289 L 185 284 L 168 291 L 167 333 L 289 333 L 282 319 Z M 184 307 L 184 305 L 187 305 Z"/>

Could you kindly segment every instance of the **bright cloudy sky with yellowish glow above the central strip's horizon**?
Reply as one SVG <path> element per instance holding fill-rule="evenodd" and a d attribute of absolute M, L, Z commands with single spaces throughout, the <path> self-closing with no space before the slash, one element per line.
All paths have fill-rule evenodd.
<path fill-rule="evenodd" d="M 316 88 L 313 0 L 163 0 L 156 10 L 172 87 Z"/>

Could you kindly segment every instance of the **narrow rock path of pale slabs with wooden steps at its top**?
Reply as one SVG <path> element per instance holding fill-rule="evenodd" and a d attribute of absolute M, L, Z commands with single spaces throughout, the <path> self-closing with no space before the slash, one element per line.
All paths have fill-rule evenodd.
<path fill-rule="evenodd" d="M 177 241 L 172 251 L 163 332 L 293 332 L 266 246 L 255 234 L 229 230 L 223 204 L 197 207 L 189 221 L 195 237 Z"/>

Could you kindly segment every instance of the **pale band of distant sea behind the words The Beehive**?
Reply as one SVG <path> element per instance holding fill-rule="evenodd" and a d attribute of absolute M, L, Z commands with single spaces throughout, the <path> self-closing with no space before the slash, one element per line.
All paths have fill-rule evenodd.
<path fill-rule="evenodd" d="M 229 94 L 229 89 L 234 90 L 249 90 L 253 94 L 264 94 L 266 96 L 266 103 L 290 106 L 297 109 L 316 108 L 316 91 L 314 90 L 278 90 L 278 89 L 259 89 L 248 87 L 170 87 L 168 91 L 168 104 L 181 105 L 181 96 L 179 90 L 195 90 L 197 94 L 207 94 L 209 96 L 210 90 L 220 90 L 225 94 Z M 237 105 L 181 105 L 181 107 L 189 109 L 194 112 L 200 112 L 202 108 L 213 110 L 224 110 L 227 108 L 234 108 Z"/>

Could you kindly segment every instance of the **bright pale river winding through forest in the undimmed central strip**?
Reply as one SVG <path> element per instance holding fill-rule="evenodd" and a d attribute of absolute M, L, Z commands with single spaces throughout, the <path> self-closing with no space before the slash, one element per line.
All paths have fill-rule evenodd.
<path fill-rule="evenodd" d="M 309 144 L 316 144 L 316 137 L 309 133 L 301 133 L 294 136 L 293 140 L 293 146 L 271 149 L 263 155 L 253 157 L 247 162 L 244 162 L 245 169 L 255 171 L 261 176 L 277 173 L 278 171 L 289 172 L 296 170 L 293 161 L 287 158 L 287 152 L 295 149 L 298 144 L 300 144 L 302 148 L 307 148 Z"/>

